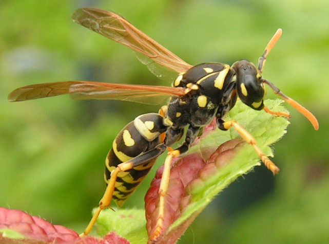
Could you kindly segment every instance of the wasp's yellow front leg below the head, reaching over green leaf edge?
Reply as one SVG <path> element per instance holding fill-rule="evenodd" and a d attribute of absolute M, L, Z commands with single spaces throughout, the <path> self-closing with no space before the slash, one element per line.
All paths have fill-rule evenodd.
<path fill-rule="evenodd" d="M 250 135 L 250 133 L 239 125 L 235 120 L 229 120 L 224 122 L 221 119 L 217 119 L 218 127 L 222 130 L 228 130 L 230 127 L 234 127 L 240 134 L 240 136 L 245 140 L 248 144 L 254 147 L 257 152 L 259 158 L 265 164 L 265 166 L 273 172 L 274 175 L 279 173 L 280 169 L 262 152 L 262 150 L 257 146 L 256 139 Z"/>

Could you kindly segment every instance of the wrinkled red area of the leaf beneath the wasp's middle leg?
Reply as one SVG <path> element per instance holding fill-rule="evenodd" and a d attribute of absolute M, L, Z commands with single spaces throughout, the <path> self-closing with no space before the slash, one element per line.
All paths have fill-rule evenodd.
<path fill-rule="evenodd" d="M 197 217 L 199 212 L 193 213 L 189 219 L 175 230 L 166 233 L 168 227 L 177 220 L 188 204 L 191 203 L 191 191 L 208 180 L 211 175 L 223 167 L 235 156 L 236 150 L 243 144 L 240 140 L 230 140 L 219 148 L 212 150 L 209 159 L 203 159 L 200 152 L 191 153 L 173 163 L 170 169 L 170 179 L 165 197 L 165 213 L 162 227 L 162 235 L 153 243 L 175 243 L 185 232 L 187 227 Z M 205 153 L 202 153 L 203 157 Z M 145 196 L 146 228 L 149 236 L 153 234 L 159 213 L 159 187 L 163 166 L 159 168 L 151 187 Z"/>

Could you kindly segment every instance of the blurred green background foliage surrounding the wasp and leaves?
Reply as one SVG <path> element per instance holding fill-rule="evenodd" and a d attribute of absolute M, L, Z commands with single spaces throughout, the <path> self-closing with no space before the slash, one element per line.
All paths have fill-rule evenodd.
<path fill-rule="evenodd" d="M 275 178 L 264 166 L 238 179 L 179 243 L 329 243 L 329 1 L 2 0 L 0 2 L 0 206 L 81 232 L 105 189 L 104 160 L 121 128 L 159 106 L 75 101 L 69 96 L 9 103 L 17 87 L 94 80 L 169 85 L 132 52 L 71 20 L 80 7 L 125 16 L 191 64 L 258 57 L 278 28 L 264 77 L 318 118 L 291 106 L 275 145 Z M 268 88 L 268 97 L 275 95 Z M 125 208 L 144 206 L 154 170 Z"/>

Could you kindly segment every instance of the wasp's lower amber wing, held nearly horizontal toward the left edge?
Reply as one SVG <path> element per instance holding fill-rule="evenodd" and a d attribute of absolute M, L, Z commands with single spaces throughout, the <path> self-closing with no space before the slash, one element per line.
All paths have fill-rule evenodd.
<path fill-rule="evenodd" d="M 91 81 L 65 81 L 28 85 L 9 94 L 8 100 L 25 101 L 69 94 L 73 99 L 116 99 L 147 104 L 160 104 L 169 96 L 183 96 L 184 88 L 114 84 Z"/>

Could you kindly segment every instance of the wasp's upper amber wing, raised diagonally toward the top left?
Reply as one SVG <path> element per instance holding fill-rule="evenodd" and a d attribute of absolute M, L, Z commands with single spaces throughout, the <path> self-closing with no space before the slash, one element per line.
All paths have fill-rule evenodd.
<path fill-rule="evenodd" d="M 178 73 L 192 67 L 115 13 L 82 8 L 76 10 L 72 18 L 76 23 L 135 51 L 138 59 L 159 78 L 172 81 Z"/>

